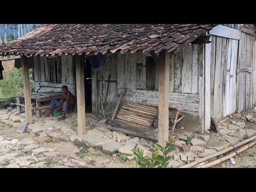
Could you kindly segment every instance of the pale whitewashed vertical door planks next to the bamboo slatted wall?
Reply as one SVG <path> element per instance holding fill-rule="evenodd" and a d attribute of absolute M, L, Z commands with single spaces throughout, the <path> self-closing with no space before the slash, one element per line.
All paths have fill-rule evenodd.
<path fill-rule="evenodd" d="M 224 100 L 226 101 L 223 108 L 223 116 L 226 117 L 236 112 L 236 66 L 238 57 L 238 40 L 227 39 L 228 41 L 228 56 L 226 62 L 226 73 L 224 73 L 224 80 L 226 86 L 223 87 Z"/>

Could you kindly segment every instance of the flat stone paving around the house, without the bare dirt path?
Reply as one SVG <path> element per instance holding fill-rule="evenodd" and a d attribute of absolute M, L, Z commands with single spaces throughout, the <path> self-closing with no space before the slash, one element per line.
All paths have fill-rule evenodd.
<path fill-rule="evenodd" d="M 90 148 L 91 154 L 97 154 L 96 150 L 100 150 L 102 153 L 110 155 L 126 155 L 130 162 L 134 161 L 132 148 L 143 149 L 144 155 L 152 155 L 156 142 L 111 131 L 107 124 L 96 124 L 98 119 L 95 114 L 86 114 L 86 134 L 82 138 L 78 137 L 76 112 L 68 114 L 66 120 L 60 122 L 56 117 L 43 115 L 36 118 L 33 116 L 33 123 L 28 126 L 26 131 L 39 134 L 41 137 L 52 139 L 55 142 L 79 140 Z M 24 113 L 18 114 L 16 110 L 0 110 L 0 121 L 16 128 L 24 121 Z M 220 123 L 219 133 L 206 131 L 204 134 L 197 134 L 184 130 L 174 133 L 178 141 L 174 143 L 176 151 L 170 153 L 173 158 L 170 160 L 168 168 L 178 168 L 256 135 L 255 122 L 255 110 L 248 110 L 226 117 L 225 121 Z M 52 162 L 58 163 L 53 166 Z M 82 161 L 55 152 L 55 148 L 36 144 L 33 138 L 17 140 L 0 136 L 0 166 L 37 168 L 50 165 L 63 168 L 86 166 Z"/>

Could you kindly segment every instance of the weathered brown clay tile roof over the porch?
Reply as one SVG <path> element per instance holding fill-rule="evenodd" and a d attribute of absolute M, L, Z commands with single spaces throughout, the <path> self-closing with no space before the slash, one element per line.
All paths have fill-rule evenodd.
<path fill-rule="evenodd" d="M 0 55 L 176 52 L 217 24 L 42 24 L 0 45 Z"/>

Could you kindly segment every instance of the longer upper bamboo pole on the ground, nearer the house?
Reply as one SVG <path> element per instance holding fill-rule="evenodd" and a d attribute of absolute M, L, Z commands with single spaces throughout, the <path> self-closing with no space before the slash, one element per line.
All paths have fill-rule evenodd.
<path fill-rule="evenodd" d="M 230 146 L 230 147 L 228 147 L 228 148 L 226 148 L 226 149 L 224 149 L 224 150 L 221 150 L 221 151 L 219 151 L 219 152 L 210 154 L 210 155 L 205 156 L 205 157 L 203 157 L 203 158 L 201 158 L 201 159 L 198 159 L 198 160 L 196 160 L 196 161 L 194 161 L 194 162 L 191 162 L 191 163 L 188 163 L 188 164 L 186 164 L 186 165 L 184 165 L 184 166 L 181 166 L 180 168 L 191 168 L 191 167 L 196 166 L 196 165 L 198 165 L 198 164 L 200 164 L 200 163 L 202 163 L 202 162 L 205 162 L 206 160 L 209 160 L 209 159 L 214 158 L 214 157 L 216 157 L 216 156 L 222 155 L 222 154 L 224 154 L 224 153 L 226 153 L 226 152 L 229 152 L 229 151 L 231 151 L 231 150 L 233 150 L 233 149 L 239 148 L 239 147 L 241 147 L 241 146 L 243 146 L 243 145 L 245 145 L 245 144 L 251 142 L 251 141 L 254 140 L 254 139 L 256 139 L 256 135 L 255 135 L 255 136 L 252 136 L 252 137 L 250 137 L 250 138 L 248 138 L 248 139 L 246 139 L 246 140 L 243 140 L 243 141 L 241 141 L 241 142 L 238 142 L 237 144 L 234 144 L 233 146 Z"/>

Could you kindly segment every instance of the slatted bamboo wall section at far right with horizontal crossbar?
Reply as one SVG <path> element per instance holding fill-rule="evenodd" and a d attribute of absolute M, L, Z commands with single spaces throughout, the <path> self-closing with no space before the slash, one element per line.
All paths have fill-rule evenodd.
<path fill-rule="evenodd" d="M 242 32 L 239 44 L 238 69 L 252 67 L 252 73 L 239 72 L 237 74 L 236 110 L 252 109 L 255 104 L 255 37 Z"/>

